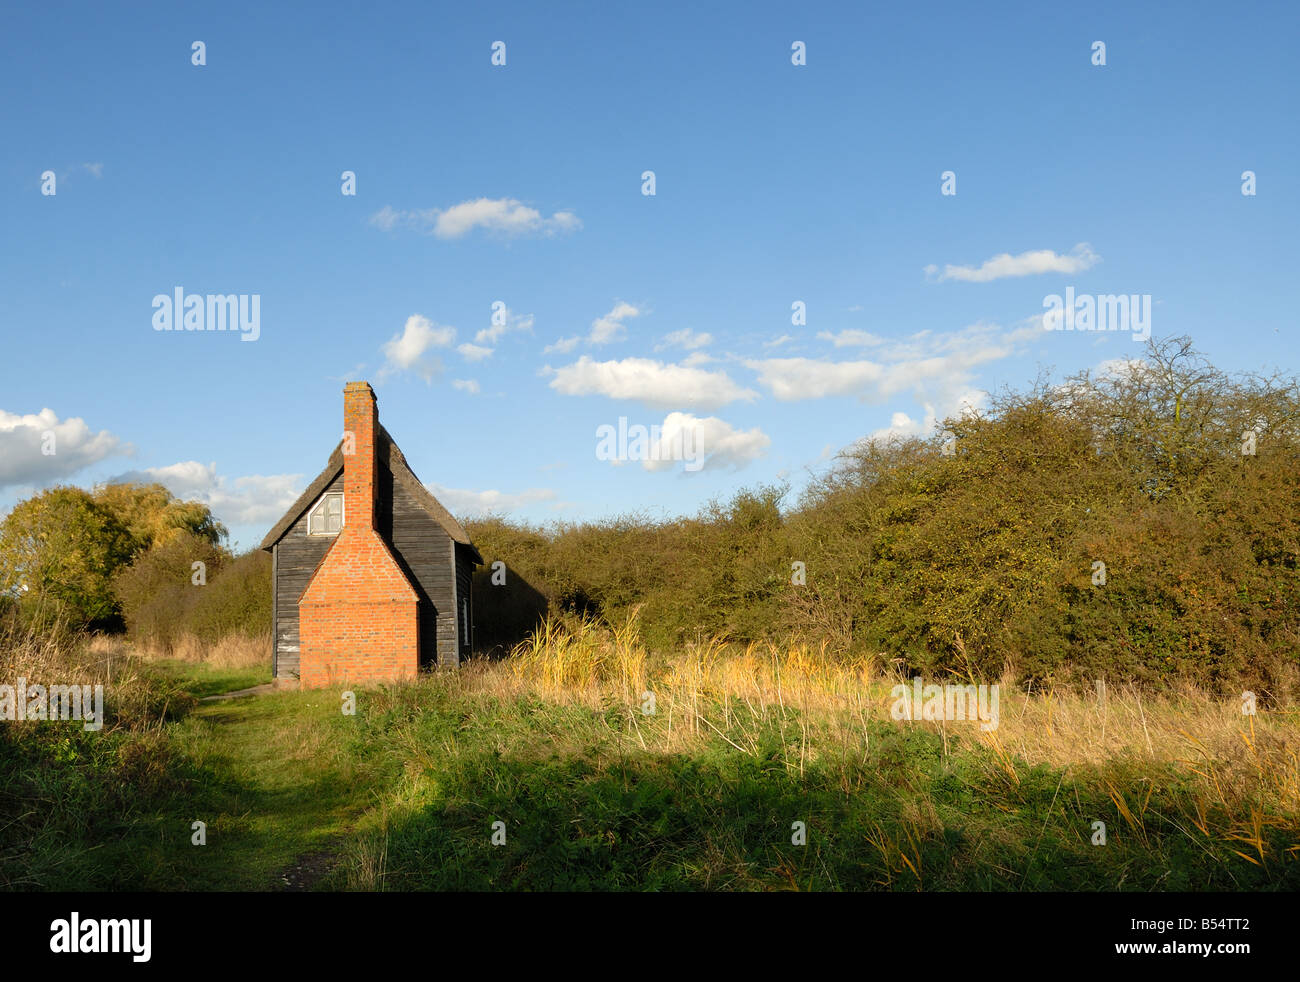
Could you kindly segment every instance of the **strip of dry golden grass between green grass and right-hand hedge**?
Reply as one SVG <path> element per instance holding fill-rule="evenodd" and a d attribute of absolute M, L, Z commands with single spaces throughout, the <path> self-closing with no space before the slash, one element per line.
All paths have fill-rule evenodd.
<path fill-rule="evenodd" d="M 628 726 L 644 747 L 689 752 L 702 739 L 722 737 L 757 752 L 758 731 L 772 719 L 788 726 L 789 766 L 802 767 L 819 748 L 849 752 L 870 744 L 867 721 L 890 721 L 890 691 L 907 682 L 883 657 L 852 659 L 827 644 L 690 644 L 681 653 L 651 658 L 637 639 L 636 617 L 610 631 L 592 622 L 552 620 L 506 662 L 476 662 L 459 674 L 464 695 L 540 697 L 556 704 L 628 708 Z M 927 679 L 928 682 L 979 682 Z M 1031 688 L 1008 676 L 998 682 L 998 726 L 971 722 L 900 722 L 939 732 L 950 745 L 985 750 L 992 766 L 1018 783 L 1024 766 L 1049 765 L 1067 775 L 1115 762 L 1166 765 L 1184 774 L 1202 809 L 1234 816 L 1248 845 L 1261 823 L 1300 826 L 1300 710 L 1260 706 L 1242 711 L 1182 684 L 1162 693 L 1126 687 L 1100 691 Z M 640 711 L 654 693 L 655 714 Z M 1112 792 L 1117 808 L 1140 829 L 1143 801 Z M 1204 830 L 1204 810 L 1190 814 Z"/>

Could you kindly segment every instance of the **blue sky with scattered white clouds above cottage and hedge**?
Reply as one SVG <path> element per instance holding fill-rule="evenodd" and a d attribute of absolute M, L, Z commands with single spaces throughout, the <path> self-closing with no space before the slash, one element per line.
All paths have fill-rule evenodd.
<path fill-rule="evenodd" d="M 0 510 L 148 476 L 254 545 L 360 377 L 462 516 L 693 512 L 1141 350 L 1067 286 L 1296 365 L 1294 4 L 465 7 L 5 10 Z M 703 467 L 597 459 L 620 416 Z"/>

